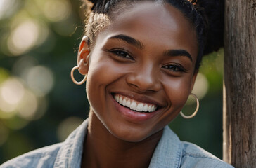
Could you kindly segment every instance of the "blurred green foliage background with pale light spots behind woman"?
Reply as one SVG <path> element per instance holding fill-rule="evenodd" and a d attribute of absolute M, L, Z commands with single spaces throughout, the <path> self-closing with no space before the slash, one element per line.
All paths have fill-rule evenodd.
<path fill-rule="evenodd" d="M 83 34 L 84 10 L 71 0 L 0 0 L 0 165 L 64 141 L 87 118 L 85 87 L 70 80 Z M 223 49 L 203 58 L 193 93 L 196 117 L 170 127 L 222 158 Z M 77 80 L 82 76 L 76 72 Z M 188 101 L 182 110 L 193 113 Z"/>

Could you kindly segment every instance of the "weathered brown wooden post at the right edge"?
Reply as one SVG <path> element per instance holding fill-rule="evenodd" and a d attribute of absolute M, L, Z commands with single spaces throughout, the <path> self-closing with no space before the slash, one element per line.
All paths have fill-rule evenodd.
<path fill-rule="evenodd" d="M 256 0 L 225 0 L 224 50 L 224 161 L 255 168 Z"/>

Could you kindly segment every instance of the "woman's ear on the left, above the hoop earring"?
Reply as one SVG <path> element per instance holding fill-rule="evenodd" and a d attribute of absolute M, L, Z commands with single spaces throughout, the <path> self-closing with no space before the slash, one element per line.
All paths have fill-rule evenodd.
<path fill-rule="evenodd" d="M 79 45 L 78 53 L 77 53 L 77 65 L 79 66 L 79 73 L 85 75 L 88 73 L 89 69 L 89 38 L 87 36 L 83 36 L 82 41 Z"/>

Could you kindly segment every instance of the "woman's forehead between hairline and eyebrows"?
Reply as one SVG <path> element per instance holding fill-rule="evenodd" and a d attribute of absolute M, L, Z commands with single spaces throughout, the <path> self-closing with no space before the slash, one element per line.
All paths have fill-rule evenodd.
<path fill-rule="evenodd" d="M 196 56 L 198 52 L 196 31 L 190 22 L 177 8 L 165 3 L 146 1 L 121 8 L 102 34 L 125 34 L 165 49 L 185 49 Z"/>

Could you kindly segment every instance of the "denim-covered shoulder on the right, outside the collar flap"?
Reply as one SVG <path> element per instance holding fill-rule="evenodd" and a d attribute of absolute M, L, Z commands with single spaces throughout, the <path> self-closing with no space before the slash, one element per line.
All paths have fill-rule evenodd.
<path fill-rule="evenodd" d="M 203 148 L 181 141 L 183 146 L 181 167 L 232 168 L 231 165 L 208 153 Z"/>

